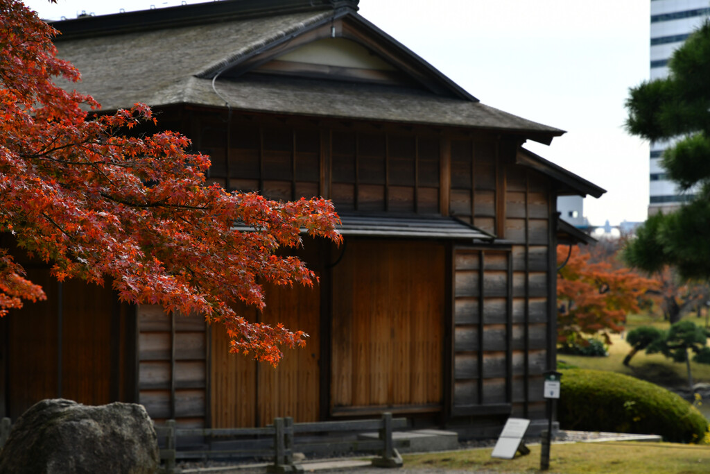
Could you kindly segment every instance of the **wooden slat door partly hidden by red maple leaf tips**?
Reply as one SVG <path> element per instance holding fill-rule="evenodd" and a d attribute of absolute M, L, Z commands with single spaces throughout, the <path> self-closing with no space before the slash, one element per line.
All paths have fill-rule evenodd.
<path fill-rule="evenodd" d="M 278 367 L 229 354 L 224 328 L 212 327 L 210 365 L 212 427 L 264 426 L 276 416 L 317 421 L 320 379 L 320 288 L 266 286 L 266 308 L 237 309 L 249 321 L 303 330 L 305 348 L 283 349 Z"/>

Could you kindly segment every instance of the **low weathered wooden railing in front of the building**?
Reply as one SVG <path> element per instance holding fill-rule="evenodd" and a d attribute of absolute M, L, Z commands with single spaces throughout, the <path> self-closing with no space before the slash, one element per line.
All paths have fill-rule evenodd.
<path fill-rule="evenodd" d="M 273 458 L 273 464 L 268 466 L 268 472 L 288 473 L 302 470 L 293 461 L 293 453 L 297 452 L 337 452 L 376 451 L 379 456 L 373 458 L 373 465 L 383 468 L 397 468 L 402 465 L 397 448 L 409 446 L 409 440 L 394 440 L 395 429 L 405 428 L 406 419 L 393 419 L 392 414 L 385 413 L 381 419 L 354 421 L 322 421 L 316 423 L 293 423 L 293 419 L 276 418 L 273 425 L 263 428 L 239 429 L 191 429 L 177 428 L 174 420 L 165 422 L 165 426 L 156 426 L 159 438 L 165 441 L 165 448 L 160 450 L 160 460 L 164 472 L 175 473 L 178 459 L 210 459 L 228 457 L 268 457 Z M 372 440 L 346 439 L 346 435 L 354 435 L 366 431 L 377 431 L 378 438 Z M 246 443 L 234 443 L 234 448 L 208 449 L 178 449 L 178 438 L 183 436 L 200 436 L 212 442 L 246 436 L 260 437 L 262 443 L 247 446 Z M 266 439 L 264 439 L 266 438 Z M 219 441 L 218 441 L 219 442 Z M 239 444 L 242 444 L 239 447 Z"/>

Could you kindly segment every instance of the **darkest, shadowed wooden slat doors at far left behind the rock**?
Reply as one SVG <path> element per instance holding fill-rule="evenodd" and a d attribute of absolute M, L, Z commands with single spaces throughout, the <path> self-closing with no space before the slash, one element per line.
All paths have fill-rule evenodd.
<path fill-rule="evenodd" d="M 111 394 L 111 377 L 116 377 L 111 338 L 119 338 L 121 345 L 124 335 L 111 333 L 111 288 L 81 281 L 62 284 L 60 330 L 57 281 L 46 269 L 30 269 L 28 278 L 43 286 L 47 300 L 28 302 L 6 316 L 9 416 L 16 419 L 45 398 L 98 405 L 120 397 Z"/>

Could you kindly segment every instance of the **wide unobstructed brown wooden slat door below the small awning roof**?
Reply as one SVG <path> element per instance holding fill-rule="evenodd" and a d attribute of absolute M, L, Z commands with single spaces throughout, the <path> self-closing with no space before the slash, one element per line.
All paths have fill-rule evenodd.
<path fill-rule="evenodd" d="M 333 269 L 331 411 L 442 402 L 444 247 L 348 242 Z"/>

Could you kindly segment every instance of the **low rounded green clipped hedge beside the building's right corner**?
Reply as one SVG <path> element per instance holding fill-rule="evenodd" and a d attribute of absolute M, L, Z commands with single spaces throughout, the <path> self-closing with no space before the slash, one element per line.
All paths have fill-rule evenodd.
<path fill-rule="evenodd" d="M 562 429 L 657 434 L 675 443 L 697 443 L 708 430 L 697 408 L 650 382 L 601 370 L 562 373 Z"/>

